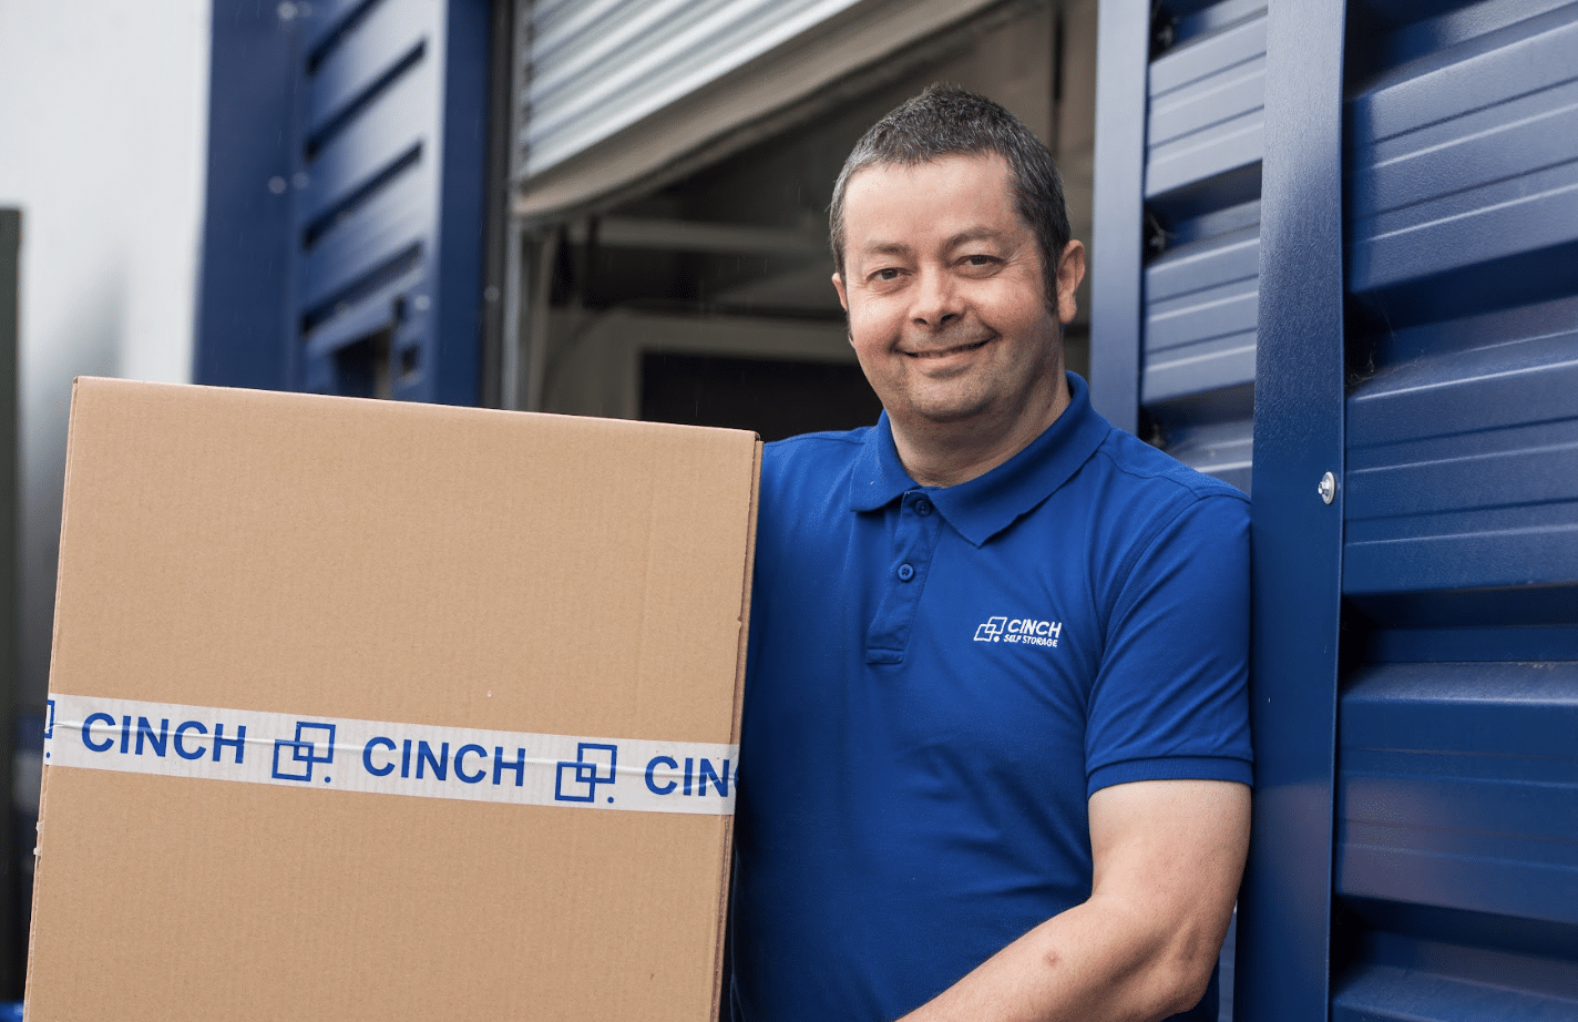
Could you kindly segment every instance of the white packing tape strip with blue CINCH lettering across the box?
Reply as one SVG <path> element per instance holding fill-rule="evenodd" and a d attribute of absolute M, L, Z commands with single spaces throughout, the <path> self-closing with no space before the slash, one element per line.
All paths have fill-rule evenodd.
<path fill-rule="evenodd" d="M 638 812 L 734 812 L 735 746 L 55 695 L 49 766 Z M 620 783 L 623 780 L 623 783 Z"/>

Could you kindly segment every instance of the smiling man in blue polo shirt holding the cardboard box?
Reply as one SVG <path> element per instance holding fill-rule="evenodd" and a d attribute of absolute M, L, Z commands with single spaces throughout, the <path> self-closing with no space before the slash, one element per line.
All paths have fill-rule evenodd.
<path fill-rule="evenodd" d="M 764 457 L 737 1019 L 1215 1017 L 1247 501 L 1064 373 L 1067 223 L 1045 147 L 953 87 L 839 177 L 833 286 L 885 412 Z"/>

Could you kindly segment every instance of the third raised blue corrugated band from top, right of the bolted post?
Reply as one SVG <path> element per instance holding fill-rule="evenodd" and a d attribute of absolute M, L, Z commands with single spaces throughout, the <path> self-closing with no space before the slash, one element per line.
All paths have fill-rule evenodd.
<path fill-rule="evenodd" d="M 1338 894 L 1578 927 L 1578 662 L 1368 668 L 1341 722 Z"/>

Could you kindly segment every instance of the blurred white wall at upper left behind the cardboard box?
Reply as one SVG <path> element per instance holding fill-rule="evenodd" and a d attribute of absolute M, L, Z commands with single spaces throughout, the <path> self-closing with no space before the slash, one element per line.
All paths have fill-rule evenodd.
<path fill-rule="evenodd" d="M 0 205 L 22 210 L 22 705 L 41 705 L 71 379 L 188 382 L 208 0 L 0 0 Z"/>

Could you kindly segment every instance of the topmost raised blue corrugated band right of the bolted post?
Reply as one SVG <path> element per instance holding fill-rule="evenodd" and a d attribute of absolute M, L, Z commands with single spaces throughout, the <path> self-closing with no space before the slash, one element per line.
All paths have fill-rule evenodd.
<path fill-rule="evenodd" d="M 1404 65 L 1352 128 L 1354 291 L 1578 243 L 1578 5 Z"/>

